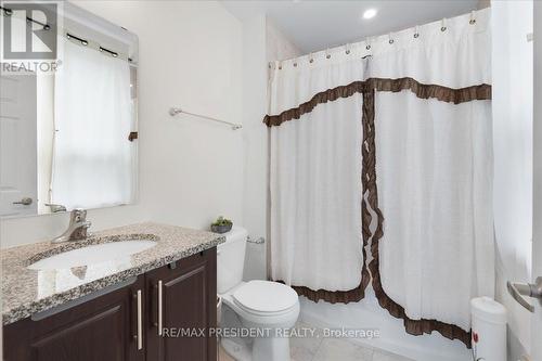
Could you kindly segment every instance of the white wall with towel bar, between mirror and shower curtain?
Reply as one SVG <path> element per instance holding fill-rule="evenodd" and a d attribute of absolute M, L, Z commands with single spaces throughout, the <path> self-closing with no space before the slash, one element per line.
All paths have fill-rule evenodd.
<path fill-rule="evenodd" d="M 243 121 L 242 25 L 215 1 L 76 1 L 140 38 L 140 196 L 89 212 L 92 229 L 144 220 L 207 228 L 243 223 L 243 131 L 184 115 L 181 106 Z M 67 215 L 0 221 L 1 246 L 60 234 Z"/>

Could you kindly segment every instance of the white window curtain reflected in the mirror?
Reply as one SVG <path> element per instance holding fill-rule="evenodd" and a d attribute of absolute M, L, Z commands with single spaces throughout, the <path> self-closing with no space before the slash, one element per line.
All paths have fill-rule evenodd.
<path fill-rule="evenodd" d="M 54 85 L 51 203 L 68 209 L 133 198 L 130 67 L 64 38 Z"/>

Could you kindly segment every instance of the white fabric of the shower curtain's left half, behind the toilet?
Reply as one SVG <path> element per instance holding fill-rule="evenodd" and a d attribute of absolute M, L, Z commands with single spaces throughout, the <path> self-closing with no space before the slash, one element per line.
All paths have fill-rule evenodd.
<path fill-rule="evenodd" d="M 274 64 L 270 114 L 363 78 L 360 60 L 325 56 L 306 56 L 296 65 Z M 361 116 L 362 95 L 356 94 L 319 104 L 299 119 L 271 127 L 273 280 L 312 291 L 358 287 L 357 298 L 362 296 Z"/>

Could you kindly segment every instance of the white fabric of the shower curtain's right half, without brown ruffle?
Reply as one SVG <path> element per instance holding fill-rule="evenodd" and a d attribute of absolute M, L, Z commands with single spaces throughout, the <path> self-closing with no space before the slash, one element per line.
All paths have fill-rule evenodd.
<path fill-rule="evenodd" d="M 371 60 L 371 77 L 491 83 L 488 10 L 396 39 Z M 382 286 L 408 318 L 468 331 L 469 300 L 494 292 L 491 102 L 376 92 L 375 127 Z"/>

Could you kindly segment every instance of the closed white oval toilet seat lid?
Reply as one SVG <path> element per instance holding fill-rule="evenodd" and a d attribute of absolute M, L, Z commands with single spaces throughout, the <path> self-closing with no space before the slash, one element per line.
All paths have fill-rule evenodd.
<path fill-rule="evenodd" d="M 232 293 L 232 299 L 246 312 L 260 315 L 287 313 L 299 301 L 292 287 L 271 281 L 249 281 Z"/>

